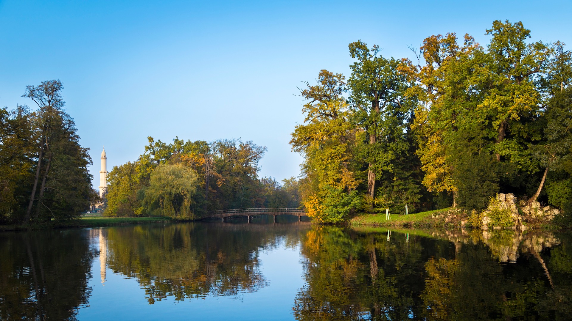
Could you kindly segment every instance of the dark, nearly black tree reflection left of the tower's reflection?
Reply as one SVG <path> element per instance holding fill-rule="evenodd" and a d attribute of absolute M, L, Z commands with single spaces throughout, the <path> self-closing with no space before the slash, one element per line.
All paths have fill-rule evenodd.
<path fill-rule="evenodd" d="M 89 231 L 0 233 L 0 320 L 75 319 L 90 295 Z"/>

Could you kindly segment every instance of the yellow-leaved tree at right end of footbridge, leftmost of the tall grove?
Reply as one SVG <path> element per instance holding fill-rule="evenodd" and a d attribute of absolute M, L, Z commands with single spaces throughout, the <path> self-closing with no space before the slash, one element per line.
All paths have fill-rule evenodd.
<path fill-rule="evenodd" d="M 290 144 L 292 150 L 304 155 L 301 201 L 306 208 L 316 209 L 309 215 L 327 220 L 328 215 L 317 209 L 323 208 L 323 196 L 329 195 L 328 191 L 341 191 L 352 199 L 358 198 L 356 188 L 362 182 L 359 177 L 362 162 L 356 161 L 356 155 L 362 154 L 364 133 L 349 120 L 351 111 L 343 96 L 346 90 L 343 75 L 321 70 L 317 85 L 305 85 L 300 90 L 306 101 L 302 109 L 304 124 L 296 126 Z"/>

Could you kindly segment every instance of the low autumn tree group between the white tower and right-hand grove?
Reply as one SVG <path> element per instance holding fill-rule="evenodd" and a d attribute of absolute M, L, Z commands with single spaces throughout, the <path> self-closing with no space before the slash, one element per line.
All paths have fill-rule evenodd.
<path fill-rule="evenodd" d="M 109 172 L 104 215 L 195 219 L 208 211 L 300 204 L 295 178 L 259 179 L 266 147 L 237 139 L 148 139 L 136 162 Z"/>

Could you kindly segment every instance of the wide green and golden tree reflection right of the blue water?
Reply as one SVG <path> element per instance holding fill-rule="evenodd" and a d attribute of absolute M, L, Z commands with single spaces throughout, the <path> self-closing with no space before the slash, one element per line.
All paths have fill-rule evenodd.
<path fill-rule="evenodd" d="M 314 227 L 299 320 L 570 318 L 570 234 Z"/>

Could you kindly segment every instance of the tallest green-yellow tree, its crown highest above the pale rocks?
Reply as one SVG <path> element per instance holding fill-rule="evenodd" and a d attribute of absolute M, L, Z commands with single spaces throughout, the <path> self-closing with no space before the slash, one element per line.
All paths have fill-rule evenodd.
<path fill-rule="evenodd" d="M 526 43 L 530 30 L 522 22 L 496 20 L 486 34 L 492 35 L 485 63 L 490 90 L 479 107 L 496 127 L 496 160 L 501 156 L 517 158 L 521 153 L 515 140 L 505 141 L 509 121 L 538 112 L 540 93 L 533 77 L 546 70 L 551 50 L 542 42 Z"/>

